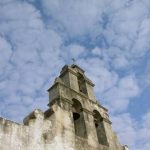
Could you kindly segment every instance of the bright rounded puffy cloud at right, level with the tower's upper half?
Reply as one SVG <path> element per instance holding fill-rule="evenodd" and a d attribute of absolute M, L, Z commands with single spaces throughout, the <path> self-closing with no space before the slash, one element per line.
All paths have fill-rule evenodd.
<path fill-rule="evenodd" d="M 125 76 L 104 93 L 106 105 L 112 112 L 125 111 L 130 100 L 140 94 L 138 83 L 133 75 Z"/>

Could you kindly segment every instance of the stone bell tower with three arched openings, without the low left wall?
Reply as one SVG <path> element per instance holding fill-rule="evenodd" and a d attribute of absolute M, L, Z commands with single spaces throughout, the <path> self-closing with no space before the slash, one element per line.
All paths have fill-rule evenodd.
<path fill-rule="evenodd" d="M 112 131 L 108 110 L 97 102 L 93 87 L 79 66 L 62 68 L 48 90 L 50 109 L 45 112 L 46 118 L 55 120 L 55 142 L 67 150 L 123 150 Z"/>

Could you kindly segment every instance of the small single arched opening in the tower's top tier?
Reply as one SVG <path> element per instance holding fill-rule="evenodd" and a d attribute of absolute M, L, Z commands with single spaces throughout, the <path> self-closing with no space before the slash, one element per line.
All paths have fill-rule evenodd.
<path fill-rule="evenodd" d="M 79 91 L 84 94 L 87 94 L 84 76 L 82 74 L 78 73 L 77 79 L 78 79 Z"/>

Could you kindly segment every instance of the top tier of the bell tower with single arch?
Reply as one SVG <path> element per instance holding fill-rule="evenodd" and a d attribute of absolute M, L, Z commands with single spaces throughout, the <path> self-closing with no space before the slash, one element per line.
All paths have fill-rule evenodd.
<path fill-rule="evenodd" d="M 74 64 L 71 66 L 65 65 L 59 77 L 72 90 L 96 101 L 93 91 L 94 84 L 85 76 L 84 70 L 79 66 Z"/>

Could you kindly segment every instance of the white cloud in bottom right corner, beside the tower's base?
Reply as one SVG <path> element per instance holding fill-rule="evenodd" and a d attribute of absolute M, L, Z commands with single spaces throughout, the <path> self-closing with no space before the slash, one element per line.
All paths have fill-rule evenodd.
<path fill-rule="evenodd" d="M 132 150 L 150 148 L 150 112 L 143 116 L 140 121 L 133 119 L 128 113 L 112 116 L 114 130 L 119 134 L 121 142 Z"/>

